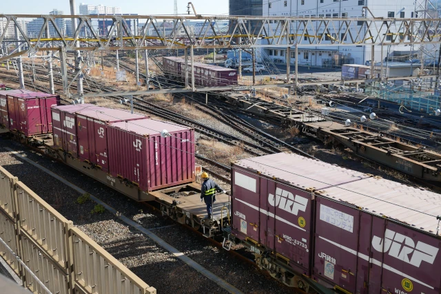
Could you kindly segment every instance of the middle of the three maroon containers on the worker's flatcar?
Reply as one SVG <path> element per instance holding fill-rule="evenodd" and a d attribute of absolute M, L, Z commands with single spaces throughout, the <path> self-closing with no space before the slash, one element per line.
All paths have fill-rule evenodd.
<path fill-rule="evenodd" d="M 108 171 L 107 125 L 147 117 L 143 114 L 130 114 L 126 110 L 105 107 L 84 109 L 75 114 L 79 158 L 92 162 L 103 171 Z"/>

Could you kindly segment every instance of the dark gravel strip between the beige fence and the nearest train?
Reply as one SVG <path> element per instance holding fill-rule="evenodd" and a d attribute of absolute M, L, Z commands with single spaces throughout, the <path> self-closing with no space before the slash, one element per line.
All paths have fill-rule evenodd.
<path fill-rule="evenodd" d="M 78 192 L 54 180 L 28 162 L 13 156 L 3 147 L 10 147 L 25 154 L 39 165 L 90 192 L 147 229 L 170 226 L 174 224 L 172 220 L 147 211 L 148 209 L 139 203 L 88 178 L 79 171 L 27 149 L 19 143 L 0 138 L 1 166 L 19 177 L 19 180 L 55 207 L 65 218 L 72 220 L 77 227 L 101 244 L 147 284 L 154 286 L 158 293 L 195 293 L 196 291 L 225 293 L 223 288 L 180 260 L 176 260 L 169 252 L 138 231 L 127 227 L 111 213 L 107 211 L 91 213 L 95 206 L 94 202 L 88 200 L 78 204 L 76 200 L 81 196 Z M 244 293 L 292 293 L 291 288 L 272 280 L 251 264 L 218 249 L 207 239 L 179 225 L 154 229 L 154 233 Z"/>

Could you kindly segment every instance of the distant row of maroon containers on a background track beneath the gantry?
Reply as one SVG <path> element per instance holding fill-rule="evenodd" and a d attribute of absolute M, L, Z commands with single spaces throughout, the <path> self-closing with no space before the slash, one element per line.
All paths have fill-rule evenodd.
<path fill-rule="evenodd" d="M 189 83 L 191 83 L 192 66 L 190 63 L 187 66 Z M 163 57 L 163 69 L 170 78 L 185 82 L 185 59 L 174 56 Z M 237 72 L 226 67 L 195 62 L 194 84 L 203 87 L 237 85 Z"/>

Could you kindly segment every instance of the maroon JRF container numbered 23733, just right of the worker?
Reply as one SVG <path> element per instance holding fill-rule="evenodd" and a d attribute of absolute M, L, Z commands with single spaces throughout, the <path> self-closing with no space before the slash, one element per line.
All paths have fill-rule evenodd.
<path fill-rule="evenodd" d="M 296 164 L 291 164 L 295 158 Z M 300 160 L 298 160 L 300 159 Z M 312 191 L 327 187 L 302 178 L 314 167 L 316 177 L 332 185 L 366 177 L 364 174 L 309 160 L 295 154 L 273 154 L 232 163 L 232 230 L 285 258 L 296 271 L 308 275 L 312 253 Z M 292 174 L 291 174 L 292 173 Z M 259 211 L 260 209 L 260 211 Z"/>

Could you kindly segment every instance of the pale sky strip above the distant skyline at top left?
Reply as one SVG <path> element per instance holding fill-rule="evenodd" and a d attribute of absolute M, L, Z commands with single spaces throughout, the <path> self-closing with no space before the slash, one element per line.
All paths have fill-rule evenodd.
<path fill-rule="evenodd" d="M 178 14 L 187 14 L 188 2 L 189 0 L 178 0 Z M 191 2 L 198 14 L 228 14 L 228 0 L 192 0 Z M 8 1 L 8 5 L 0 5 L 0 14 L 49 14 L 53 9 L 62 10 L 64 14 L 70 14 L 69 3 L 69 0 Z M 77 13 L 79 13 L 79 3 L 117 6 L 121 7 L 122 13 L 137 13 L 140 15 L 174 13 L 174 0 L 76 0 L 75 3 Z"/>

